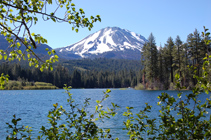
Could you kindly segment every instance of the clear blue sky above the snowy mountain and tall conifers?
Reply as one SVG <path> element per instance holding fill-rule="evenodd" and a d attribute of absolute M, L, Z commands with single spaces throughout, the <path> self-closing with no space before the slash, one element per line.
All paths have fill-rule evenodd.
<path fill-rule="evenodd" d="M 89 34 L 105 27 L 120 27 L 148 38 L 152 32 L 157 46 L 164 46 L 168 37 L 180 36 L 183 42 L 195 29 L 203 26 L 211 30 L 211 0 L 73 0 L 77 8 L 84 9 L 87 16 L 100 15 L 102 21 L 95 23 L 91 31 L 71 30 L 66 23 L 43 22 L 41 19 L 33 32 L 40 33 L 52 48 L 74 44 Z M 62 15 L 61 15 L 62 16 Z"/>

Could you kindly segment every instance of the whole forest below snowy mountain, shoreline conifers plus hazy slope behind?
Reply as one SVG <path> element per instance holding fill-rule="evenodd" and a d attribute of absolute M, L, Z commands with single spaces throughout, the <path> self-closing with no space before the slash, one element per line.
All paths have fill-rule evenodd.
<path fill-rule="evenodd" d="M 103 60 L 104 62 L 101 63 Z M 98 61 L 98 63 L 95 63 L 95 61 Z M 10 80 L 47 82 L 59 88 L 64 87 L 64 84 L 73 88 L 134 87 L 137 83 L 141 82 L 141 67 L 140 64 L 136 64 L 138 61 L 131 62 L 127 60 L 105 59 L 74 60 L 57 64 L 53 71 L 45 70 L 43 72 L 37 68 L 21 67 L 21 65 L 16 63 L 2 63 L 0 73 L 8 74 Z M 126 69 L 127 64 L 134 69 Z M 68 67 L 70 66 L 71 68 L 74 67 L 74 70 L 69 70 Z"/>

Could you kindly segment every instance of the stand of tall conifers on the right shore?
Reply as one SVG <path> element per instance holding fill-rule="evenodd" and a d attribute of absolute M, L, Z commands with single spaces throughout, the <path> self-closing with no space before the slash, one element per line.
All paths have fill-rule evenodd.
<path fill-rule="evenodd" d="M 174 75 L 178 73 L 184 88 L 191 89 L 196 83 L 193 77 L 201 76 L 203 58 L 211 51 L 205 45 L 197 29 L 183 42 L 179 36 L 169 37 L 165 45 L 157 49 L 151 33 L 142 48 L 142 84 L 145 89 L 173 89 Z"/>

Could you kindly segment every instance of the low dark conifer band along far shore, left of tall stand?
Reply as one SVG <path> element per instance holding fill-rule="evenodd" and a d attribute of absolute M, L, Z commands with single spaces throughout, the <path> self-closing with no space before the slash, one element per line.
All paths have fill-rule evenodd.
<path fill-rule="evenodd" d="M 80 71 L 75 69 L 70 72 L 68 68 L 58 64 L 54 71 L 44 70 L 41 72 L 37 68 L 23 68 L 19 64 L 2 63 L 0 73 L 8 74 L 10 80 L 47 82 L 59 88 L 64 84 L 73 88 L 123 88 L 134 87 L 141 82 L 141 71 L 121 70 L 103 71 L 87 70 Z"/>

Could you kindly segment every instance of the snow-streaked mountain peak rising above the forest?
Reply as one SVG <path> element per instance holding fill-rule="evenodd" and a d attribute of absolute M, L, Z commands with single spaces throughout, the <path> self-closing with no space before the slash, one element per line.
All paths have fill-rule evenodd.
<path fill-rule="evenodd" d="M 139 59 L 143 36 L 118 27 L 107 27 L 83 40 L 56 52 L 63 58 L 124 58 Z"/>

